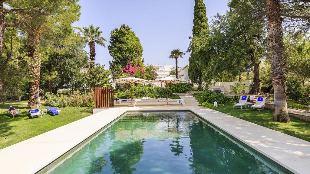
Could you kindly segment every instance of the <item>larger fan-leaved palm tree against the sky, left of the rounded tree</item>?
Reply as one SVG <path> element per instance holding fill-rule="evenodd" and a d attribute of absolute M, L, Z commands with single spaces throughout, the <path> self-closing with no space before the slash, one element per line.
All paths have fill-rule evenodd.
<path fill-rule="evenodd" d="M 99 27 L 94 27 L 94 25 L 90 25 L 89 28 L 83 27 L 78 28 L 78 27 L 73 27 L 77 28 L 78 30 L 81 31 L 81 33 L 84 35 L 83 41 L 85 43 L 88 43 L 89 45 L 89 54 L 90 54 L 90 59 L 91 59 L 91 68 L 94 67 L 95 65 L 95 55 L 96 55 L 96 50 L 95 50 L 95 43 L 99 44 L 103 47 L 105 47 L 104 41 L 107 41 L 104 37 L 100 37 L 102 31 L 99 30 Z"/>

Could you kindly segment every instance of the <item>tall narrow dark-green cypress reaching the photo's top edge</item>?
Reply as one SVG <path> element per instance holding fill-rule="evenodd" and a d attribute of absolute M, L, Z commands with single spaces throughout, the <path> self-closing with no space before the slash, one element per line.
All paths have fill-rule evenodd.
<path fill-rule="evenodd" d="M 199 42 L 201 42 L 201 37 L 206 37 L 206 34 L 209 35 L 210 32 L 203 0 L 195 0 L 193 23 L 193 39 L 188 48 L 188 52 L 192 51 L 189 59 L 188 76 L 201 89 L 203 69 L 201 58 L 204 51 L 201 50 L 202 43 Z"/>

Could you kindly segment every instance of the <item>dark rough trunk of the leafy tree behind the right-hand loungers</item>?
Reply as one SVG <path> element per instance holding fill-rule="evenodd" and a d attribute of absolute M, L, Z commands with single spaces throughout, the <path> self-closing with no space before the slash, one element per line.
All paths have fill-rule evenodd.
<path fill-rule="evenodd" d="M 253 51 L 250 52 L 250 59 L 251 59 L 251 62 L 253 63 L 253 75 L 254 76 L 253 76 L 253 87 L 249 94 L 259 95 L 261 93 L 260 82 L 262 81 L 260 80 L 260 77 L 259 77 L 259 64 L 261 61 L 259 62 L 255 61 L 255 53 Z"/>

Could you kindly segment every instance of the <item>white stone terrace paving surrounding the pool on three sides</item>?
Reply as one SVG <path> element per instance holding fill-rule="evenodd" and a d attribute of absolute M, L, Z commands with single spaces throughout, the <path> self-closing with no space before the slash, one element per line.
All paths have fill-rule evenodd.
<path fill-rule="evenodd" d="M 126 111 L 190 110 L 294 173 L 309 173 L 310 142 L 198 106 L 113 107 L 0 150 L 0 173 L 36 173 Z M 61 116 L 61 115 L 59 115 Z"/>

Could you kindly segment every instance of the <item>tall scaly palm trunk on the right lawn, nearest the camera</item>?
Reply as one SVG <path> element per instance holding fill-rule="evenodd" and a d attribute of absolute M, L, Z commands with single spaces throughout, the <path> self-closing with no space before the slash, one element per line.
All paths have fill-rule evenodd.
<path fill-rule="evenodd" d="M 283 30 L 281 23 L 281 10 L 278 0 L 266 0 L 268 39 L 271 54 L 271 76 L 274 89 L 273 120 L 277 122 L 290 122 L 286 104 L 285 65 L 283 54 Z"/>

